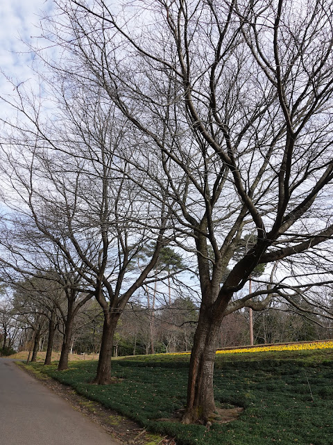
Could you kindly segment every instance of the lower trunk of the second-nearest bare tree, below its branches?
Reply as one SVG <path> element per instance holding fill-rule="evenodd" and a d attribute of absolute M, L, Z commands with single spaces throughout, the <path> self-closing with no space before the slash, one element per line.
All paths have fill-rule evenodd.
<path fill-rule="evenodd" d="M 101 350 L 99 353 L 99 364 L 93 383 L 96 385 L 108 385 L 111 379 L 111 357 L 113 349 L 114 331 L 117 327 L 120 314 L 104 314 L 103 334 Z"/>

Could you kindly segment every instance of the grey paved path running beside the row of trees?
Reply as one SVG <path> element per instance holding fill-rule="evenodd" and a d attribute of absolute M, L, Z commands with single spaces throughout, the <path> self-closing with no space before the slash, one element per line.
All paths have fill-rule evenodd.
<path fill-rule="evenodd" d="M 0 358 L 0 444 L 120 445 L 101 427 Z"/>

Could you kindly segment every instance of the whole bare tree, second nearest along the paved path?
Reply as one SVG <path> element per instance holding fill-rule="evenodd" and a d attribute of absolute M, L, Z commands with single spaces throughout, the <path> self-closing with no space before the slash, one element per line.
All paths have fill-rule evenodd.
<path fill-rule="evenodd" d="M 3 174 L 8 190 L 13 189 L 7 203 L 15 215 L 24 214 L 24 224 L 28 222 L 35 236 L 47 240 L 49 250 L 42 250 L 46 257 L 51 252 L 52 261 L 63 258 L 63 285 L 73 316 L 92 296 L 99 302 L 104 325 L 94 382 L 103 384 L 110 380 L 119 316 L 173 233 L 168 227 L 170 209 L 164 205 L 164 191 L 155 202 L 137 185 L 148 188 L 149 178 L 136 175 L 133 181 L 133 167 L 121 156 L 130 142 L 129 127 L 117 108 L 103 100 L 99 89 L 74 83 L 60 67 L 53 74 L 47 79 L 56 103 L 52 116 L 42 113 L 42 98 L 29 95 L 24 86 L 15 99 L 7 99 L 20 113 L 19 120 L 9 124 L 3 149 L 8 165 Z M 137 255 L 148 242 L 153 245 L 151 256 L 138 270 Z M 22 257 L 19 248 L 10 252 Z M 78 293 L 84 297 L 74 309 Z M 65 369 L 67 364 L 62 366 L 60 360 L 59 366 Z"/>

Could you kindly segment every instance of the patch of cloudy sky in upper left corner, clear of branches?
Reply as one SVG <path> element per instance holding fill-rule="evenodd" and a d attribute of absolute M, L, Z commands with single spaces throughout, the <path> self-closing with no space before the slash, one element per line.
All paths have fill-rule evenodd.
<path fill-rule="evenodd" d="M 33 54 L 24 42 L 33 42 L 40 35 L 37 28 L 43 12 L 49 13 L 52 0 L 0 1 L 0 68 L 13 80 L 24 81 L 31 76 Z M 0 75 L 0 95 L 8 95 L 12 86 Z M 1 115 L 3 114 L 1 110 Z"/>

